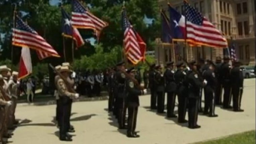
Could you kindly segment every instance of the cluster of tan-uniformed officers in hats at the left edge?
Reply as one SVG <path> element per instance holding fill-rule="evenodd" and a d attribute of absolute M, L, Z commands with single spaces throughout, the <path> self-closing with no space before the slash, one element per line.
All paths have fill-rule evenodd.
<path fill-rule="evenodd" d="M 15 119 L 18 87 L 18 72 L 6 65 L 0 66 L 0 144 L 7 143 L 7 139 L 13 135 L 8 130 L 14 130 L 18 124 Z"/>

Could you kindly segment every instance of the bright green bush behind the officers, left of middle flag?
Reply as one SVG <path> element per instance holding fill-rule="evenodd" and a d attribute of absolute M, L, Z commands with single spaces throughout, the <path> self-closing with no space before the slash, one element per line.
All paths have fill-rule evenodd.
<path fill-rule="evenodd" d="M 74 69 L 76 70 L 105 70 L 112 67 L 118 60 L 118 54 L 121 47 L 115 46 L 110 52 L 104 52 L 102 44 L 95 45 L 95 53 L 91 56 L 82 56 L 76 59 Z"/>

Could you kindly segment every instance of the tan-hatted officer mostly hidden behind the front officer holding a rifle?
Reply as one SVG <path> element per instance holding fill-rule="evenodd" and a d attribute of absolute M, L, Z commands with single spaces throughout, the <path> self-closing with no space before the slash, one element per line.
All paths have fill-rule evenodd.
<path fill-rule="evenodd" d="M 69 83 L 70 86 L 72 86 L 72 88 L 76 89 L 75 87 L 75 80 L 71 77 L 71 74 L 72 74 L 72 70 L 71 70 L 71 66 L 68 62 L 65 62 L 65 63 L 62 63 L 62 66 L 66 66 L 69 68 L 70 70 L 70 74 L 69 76 L 67 77 L 67 82 Z M 70 90 L 68 90 L 70 91 Z M 70 116 L 71 116 L 71 108 L 72 108 L 72 103 L 73 103 L 73 100 L 72 99 L 69 99 L 68 101 L 68 132 L 75 132 L 75 129 L 72 125 L 70 125 Z"/>

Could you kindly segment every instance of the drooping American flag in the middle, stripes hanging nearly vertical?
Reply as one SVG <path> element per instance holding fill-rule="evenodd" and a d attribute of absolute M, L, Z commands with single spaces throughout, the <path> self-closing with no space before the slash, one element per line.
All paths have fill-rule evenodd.
<path fill-rule="evenodd" d="M 125 9 L 122 11 L 122 22 L 126 57 L 133 64 L 137 64 L 144 59 L 146 44 L 139 34 L 133 29 L 127 18 Z"/>

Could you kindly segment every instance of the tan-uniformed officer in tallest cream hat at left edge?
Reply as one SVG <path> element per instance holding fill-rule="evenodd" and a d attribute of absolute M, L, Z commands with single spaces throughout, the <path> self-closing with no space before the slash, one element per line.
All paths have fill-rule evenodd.
<path fill-rule="evenodd" d="M 11 73 L 10 73 L 11 69 L 8 68 L 6 65 L 2 65 L 0 66 L 0 74 L 3 76 L 3 80 L 4 80 L 4 85 L 3 85 L 3 90 L 5 92 L 5 94 L 7 95 L 7 97 L 9 97 L 8 99 L 5 99 L 5 101 L 9 101 L 11 99 L 10 96 L 10 92 L 9 92 L 9 84 L 8 81 L 10 79 Z M 9 123 L 9 113 L 10 113 L 10 106 L 5 107 L 5 117 L 4 117 L 4 125 L 3 125 L 3 137 L 4 138 L 11 138 L 11 134 L 8 134 L 8 123 Z"/>

